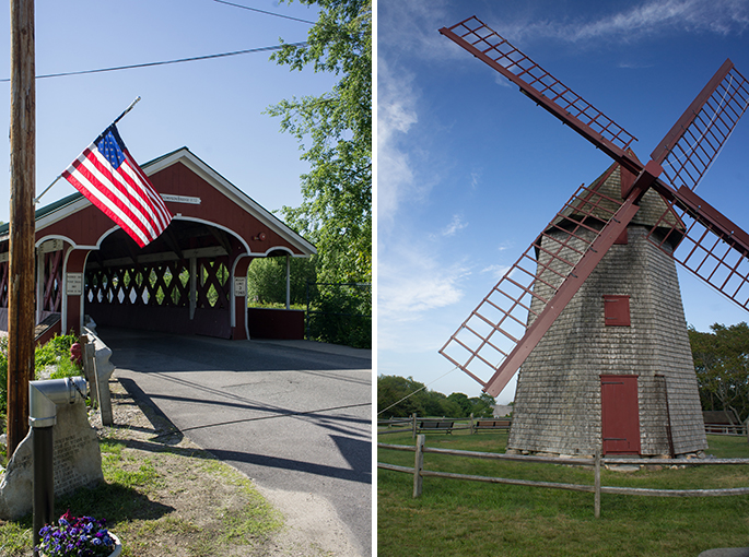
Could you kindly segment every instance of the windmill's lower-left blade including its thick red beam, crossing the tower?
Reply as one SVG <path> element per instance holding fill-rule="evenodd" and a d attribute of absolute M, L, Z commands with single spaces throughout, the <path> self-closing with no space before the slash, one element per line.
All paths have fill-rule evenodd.
<path fill-rule="evenodd" d="M 610 173 L 572 195 L 440 351 L 490 394 L 504 389 L 636 213 L 633 200 L 599 191 Z"/>

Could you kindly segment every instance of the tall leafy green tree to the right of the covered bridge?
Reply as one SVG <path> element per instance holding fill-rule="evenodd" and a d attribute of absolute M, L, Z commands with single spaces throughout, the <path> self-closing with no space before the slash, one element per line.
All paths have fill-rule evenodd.
<path fill-rule="evenodd" d="M 319 19 L 305 46 L 281 39 L 283 48 L 271 59 L 340 80 L 323 95 L 267 109 L 312 165 L 302 176 L 302 205 L 282 212 L 317 246 L 320 281 L 372 282 L 372 0 L 299 1 L 317 4 Z"/>

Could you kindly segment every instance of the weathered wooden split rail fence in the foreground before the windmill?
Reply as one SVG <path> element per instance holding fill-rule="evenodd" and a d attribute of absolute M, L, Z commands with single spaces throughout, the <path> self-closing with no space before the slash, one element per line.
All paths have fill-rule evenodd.
<path fill-rule="evenodd" d="M 445 477 L 452 479 L 467 479 L 471 482 L 487 482 L 491 484 L 522 485 L 529 487 L 546 487 L 550 489 L 566 489 L 571 491 L 585 491 L 594 494 L 595 517 L 600 517 L 601 494 L 611 495 L 632 495 L 646 497 L 726 497 L 735 495 L 749 495 L 749 487 L 732 487 L 725 489 L 651 489 L 645 487 L 612 487 L 600 485 L 600 466 L 602 465 L 632 465 L 632 459 L 601 458 L 600 449 L 590 459 L 562 459 L 548 457 L 531 457 L 523 454 L 500 454 L 493 452 L 460 451 L 453 449 L 433 449 L 425 446 L 425 436 L 417 436 L 416 446 L 377 443 L 381 449 L 395 451 L 411 451 L 416 453 L 414 465 L 399 466 L 377 462 L 377 467 L 395 472 L 413 474 L 413 498 L 421 495 L 424 477 Z M 534 482 L 528 479 L 512 479 L 504 477 L 477 476 L 470 474 L 455 474 L 450 472 L 435 472 L 424 469 L 424 453 L 449 454 L 455 457 L 467 457 L 475 459 L 504 460 L 516 462 L 542 462 L 548 464 L 564 464 L 567 466 L 593 466 L 595 470 L 594 485 L 562 484 L 553 482 Z M 749 459 L 647 459 L 648 465 L 665 466 L 721 466 L 721 465 L 748 465 Z M 637 464 L 640 464 L 637 462 Z"/>

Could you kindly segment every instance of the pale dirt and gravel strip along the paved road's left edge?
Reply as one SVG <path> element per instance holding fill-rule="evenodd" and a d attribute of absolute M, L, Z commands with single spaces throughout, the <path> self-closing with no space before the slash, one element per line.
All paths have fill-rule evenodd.
<path fill-rule="evenodd" d="M 133 467 L 139 462 L 155 467 L 160 476 L 157 487 L 148 494 L 153 503 L 174 509 L 169 512 L 173 520 L 185 519 L 198 528 L 201 515 L 214 514 L 215 509 L 232 512 L 243 505 L 243 487 L 236 479 L 236 476 L 242 476 L 238 471 L 213 460 L 189 439 L 175 432 L 174 426 L 150 406 L 136 404 L 116 377 L 109 387 L 115 426 L 102 427 L 97 415 L 92 416 L 92 426 L 102 439 L 121 441 L 124 448 L 119 458 L 132 461 Z M 242 478 L 246 484 L 246 476 Z M 246 547 L 231 547 L 229 553 L 221 555 L 358 557 L 335 509 L 325 499 L 308 493 L 253 487 L 283 517 L 283 526 L 266 536 L 260 547 L 250 552 Z M 206 528 L 210 533 L 210 526 Z M 176 534 L 185 540 L 169 542 L 173 546 L 185 546 L 184 555 L 192 555 L 196 541 L 189 536 L 200 537 L 203 534 L 187 531 Z M 160 549 L 159 543 L 148 541 L 139 542 L 137 548 L 139 557 L 156 557 L 160 552 L 163 547 Z"/>

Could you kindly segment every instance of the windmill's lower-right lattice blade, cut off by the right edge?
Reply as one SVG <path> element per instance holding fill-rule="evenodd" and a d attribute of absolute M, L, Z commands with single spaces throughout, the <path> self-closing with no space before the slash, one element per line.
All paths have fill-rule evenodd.
<path fill-rule="evenodd" d="M 749 309 L 749 234 L 688 187 L 676 191 L 662 182 L 655 187 L 671 206 L 648 239 L 728 299 Z"/>

